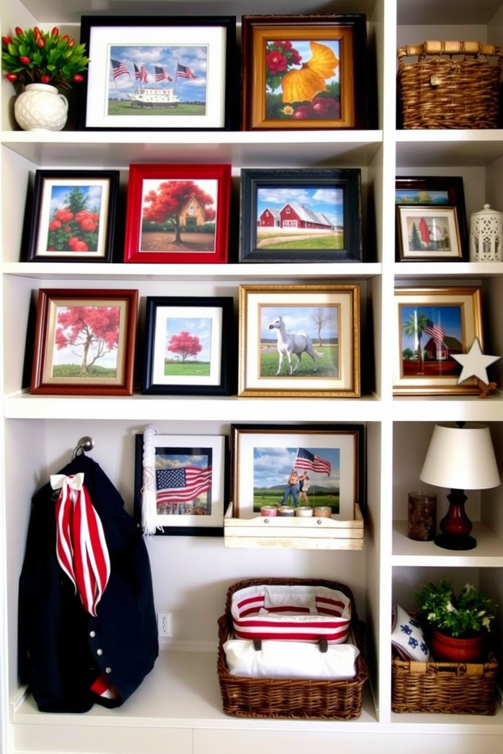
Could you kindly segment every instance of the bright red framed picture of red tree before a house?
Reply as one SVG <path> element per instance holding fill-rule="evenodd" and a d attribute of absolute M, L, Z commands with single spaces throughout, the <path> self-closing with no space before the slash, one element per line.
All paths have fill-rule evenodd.
<path fill-rule="evenodd" d="M 124 262 L 227 262 L 230 192 L 227 164 L 130 165 Z"/>

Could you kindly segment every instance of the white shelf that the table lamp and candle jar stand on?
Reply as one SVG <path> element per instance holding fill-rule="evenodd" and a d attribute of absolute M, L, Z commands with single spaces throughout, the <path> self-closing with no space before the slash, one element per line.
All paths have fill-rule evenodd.
<path fill-rule="evenodd" d="M 503 541 L 480 521 L 474 521 L 474 550 L 443 550 L 434 542 L 418 542 L 407 537 L 407 522 L 393 522 L 393 566 L 443 566 L 503 568 Z"/>

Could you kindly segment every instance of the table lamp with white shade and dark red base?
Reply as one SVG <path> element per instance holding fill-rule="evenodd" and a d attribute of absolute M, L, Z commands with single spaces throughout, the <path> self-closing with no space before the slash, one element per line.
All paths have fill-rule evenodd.
<path fill-rule="evenodd" d="M 471 520 L 465 512 L 465 489 L 489 489 L 500 483 L 489 427 L 452 422 L 435 425 L 419 478 L 450 489 L 449 510 L 440 521 L 435 544 L 445 550 L 473 550 Z"/>

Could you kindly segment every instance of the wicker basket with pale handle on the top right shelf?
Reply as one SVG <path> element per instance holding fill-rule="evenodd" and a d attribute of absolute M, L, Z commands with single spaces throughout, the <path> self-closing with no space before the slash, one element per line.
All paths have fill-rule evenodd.
<path fill-rule="evenodd" d="M 397 51 L 403 128 L 496 128 L 503 48 L 426 41 Z M 416 57 L 414 62 L 406 58 Z"/>

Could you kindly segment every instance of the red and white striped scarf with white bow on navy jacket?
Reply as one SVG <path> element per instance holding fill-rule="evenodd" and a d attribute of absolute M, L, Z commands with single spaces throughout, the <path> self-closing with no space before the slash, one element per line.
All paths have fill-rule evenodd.
<path fill-rule="evenodd" d="M 52 474 L 51 486 L 60 489 L 56 501 L 56 554 L 63 571 L 72 580 L 82 605 L 96 615 L 110 577 L 109 550 L 103 526 L 89 493 L 84 474 Z"/>

